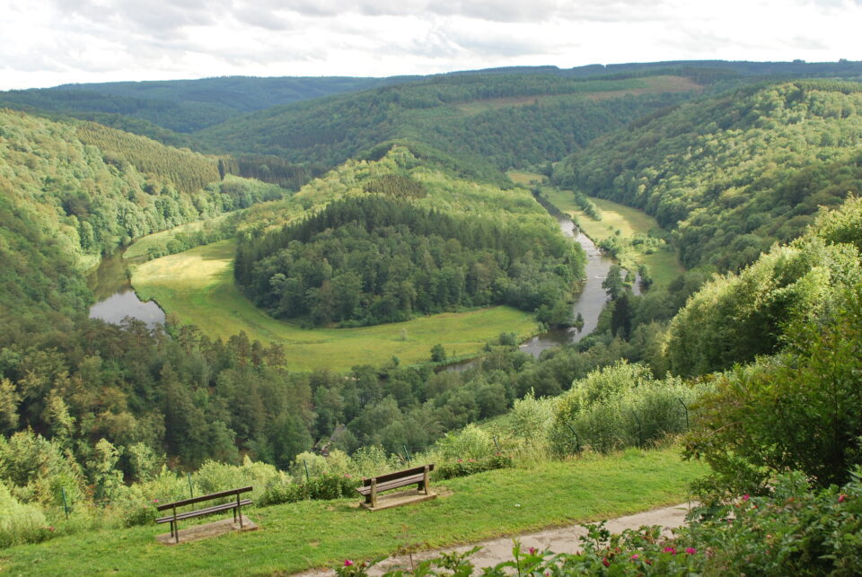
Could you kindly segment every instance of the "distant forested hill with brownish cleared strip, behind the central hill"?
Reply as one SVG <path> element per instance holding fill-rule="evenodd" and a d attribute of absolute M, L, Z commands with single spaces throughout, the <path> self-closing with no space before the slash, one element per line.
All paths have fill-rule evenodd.
<path fill-rule="evenodd" d="M 407 138 L 505 170 L 557 160 L 595 136 L 682 101 L 680 76 L 590 80 L 559 74 L 452 74 L 262 110 L 199 132 L 212 151 L 335 166 Z"/>

